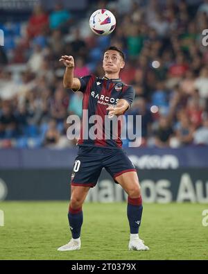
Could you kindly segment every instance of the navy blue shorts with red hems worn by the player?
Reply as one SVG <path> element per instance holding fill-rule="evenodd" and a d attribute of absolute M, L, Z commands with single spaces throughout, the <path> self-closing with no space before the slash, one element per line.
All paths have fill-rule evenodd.
<path fill-rule="evenodd" d="M 110 173 L 114 182 L 117 176 L 128 171 L 136 171 L 123 149 L 80 146 L 73 165 L 71 185 L 94 187 L 103 167 Z"/>

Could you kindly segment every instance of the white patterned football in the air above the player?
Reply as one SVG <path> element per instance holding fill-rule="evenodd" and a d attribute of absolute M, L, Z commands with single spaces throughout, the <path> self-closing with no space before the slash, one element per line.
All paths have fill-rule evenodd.
<path fill-rule="evenodd" d="M 116 27 L 116 18 L 110 10 L 96 10 L 89 18 L 89 26 L 96 35 L 108 35 Z"/>

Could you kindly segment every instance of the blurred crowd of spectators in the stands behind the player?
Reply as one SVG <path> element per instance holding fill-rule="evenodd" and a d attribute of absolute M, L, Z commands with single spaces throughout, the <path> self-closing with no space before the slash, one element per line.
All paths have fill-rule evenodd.
<path fill-rule="evenodd" d="M 69 114 L 81 117 L 82 94 L 63 88 L 58 60 L 73 55 L 76 76 L 102 77 L 110 44 L 127 56 L 121 78 L 136 89 L 128 114 L 142 115 L 142 146 L 208 145 L 208 46 L 202 46 L 208 1 L 91 4 L 82 18 L 57 3 L 49 13 L 35 6 L 27 22 L 0 24 L 0 148 L 75 146 L 66 120 Z M 112 35 L 89 30 L 89 16 L 98 8 L 116 16 Z"/>

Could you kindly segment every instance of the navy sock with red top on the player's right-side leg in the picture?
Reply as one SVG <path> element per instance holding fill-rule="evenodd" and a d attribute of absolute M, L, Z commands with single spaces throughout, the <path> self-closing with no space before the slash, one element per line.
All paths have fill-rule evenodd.
<path fill-rule="evenodd" d="M 131 234 L 139 233 L 142 210 L 143 207 L 141 196 L 139 196 L 139 198 L 130 198 L 128 196 L 127 216 Z"/>

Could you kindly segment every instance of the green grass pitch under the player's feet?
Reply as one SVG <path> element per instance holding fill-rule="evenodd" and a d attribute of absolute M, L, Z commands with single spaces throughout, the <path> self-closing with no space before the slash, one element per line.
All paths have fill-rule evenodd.
<path fill-rule="evenodd" d="M 81 250 L 58 252 L 71 238 L 68 202 L 2 202 L 0 259 L 208 259 L 208 205 L 144 204 L 140 237 L 149 251 L 128 250 L 125 203 L 85 203 Z"/>

